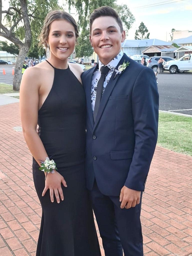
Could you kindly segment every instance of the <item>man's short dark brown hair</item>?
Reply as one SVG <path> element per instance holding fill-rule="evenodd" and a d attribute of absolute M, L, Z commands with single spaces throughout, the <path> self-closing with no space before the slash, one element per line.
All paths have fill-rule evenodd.
<path fill-rule="evenodd" d="M 102 6 L 100 8 L 95 9 L 90 15 L 90 19 L 89 19 L 90 34 L 91 34 L 93 21 L 101 16 L 113 17 L 118 23 L 118 25 L 120 26 L 121 32 L 123 32 L 123 24 L 118 13 L 110 6 Z"/>

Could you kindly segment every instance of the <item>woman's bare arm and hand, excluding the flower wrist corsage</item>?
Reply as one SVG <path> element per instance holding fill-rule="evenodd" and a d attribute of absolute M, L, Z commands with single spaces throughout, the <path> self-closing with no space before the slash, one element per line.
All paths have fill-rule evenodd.
<path fill-rule="evenodd" d="M 39 165 L 40 161 L 45 161 L 46 157 L 48 157 L 45 147 L 36 131 L 41 83 L 40 77 L 39 68 L 29 68 L 24 72 L 20 86 L 20 116 L 23 134 L 31 154 Z M 55 194 L 56 200 L 59 203 L 60 198 L 61 200 L 64 199 L 61 183 L 63 186 L 67 187 L 66 181 L 62 175 L 56 171 L 53 174 L 49 173 L 45 181 L 42 196 L 44 196 L 49 189 L 51 202 L 54 202 Z"/>

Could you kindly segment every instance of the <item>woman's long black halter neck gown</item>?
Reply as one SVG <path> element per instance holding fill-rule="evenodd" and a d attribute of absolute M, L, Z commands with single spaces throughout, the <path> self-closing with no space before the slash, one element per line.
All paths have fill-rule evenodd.
<path fill-rule="evenodd" d="M 62 185 L 64 201 L 59 204 L 56 198 L 54 203 L 50 201 L 49 190 L 42 197 L 45 175 L 33 159 L 34 183 L 42 206 L 36 256 L 100 256 L 85 184 L 86 98 L 69 68 L 54 71 L 54 82 L 39 110 L 38 124 L 45 150 L 68 187 Z"/>

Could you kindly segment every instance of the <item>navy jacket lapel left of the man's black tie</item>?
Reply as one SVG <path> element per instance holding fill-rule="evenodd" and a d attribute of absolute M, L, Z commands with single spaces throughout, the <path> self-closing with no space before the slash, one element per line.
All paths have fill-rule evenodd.
<path fill-rule="evenodd" d="M 99 68 L 99 64 L 97 64 L 88 75 L 88 79 L 86 82 L 86 100 L 87 100 L 87 113 L 89 115 L 89 119 L 91 122 L 92 127 L 94 126 L 94 119 L 93 119 L 93 112 L 91 106 L 91 86 L 92 86 L 92 77 L 93 73 Z"/>

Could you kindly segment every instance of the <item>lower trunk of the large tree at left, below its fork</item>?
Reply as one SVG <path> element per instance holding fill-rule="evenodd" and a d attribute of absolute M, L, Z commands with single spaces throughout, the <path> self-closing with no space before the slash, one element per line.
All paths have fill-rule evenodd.
<path fill-rule="evenodd" d="M 20 88 L 23 62 L 25 60 L 28 50 L 26 49 L 25 46 L 20 48 L 20 51 L 19 51 L 19 54 L 17 57 L 17 61 L 15 63 L 15 75 L 13 78 L 13 90 L 15 90 L 15 91 L 19 91 L 19 88 Z"/>

